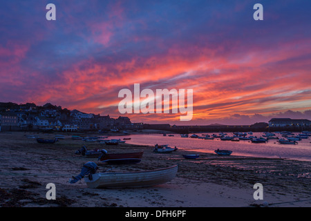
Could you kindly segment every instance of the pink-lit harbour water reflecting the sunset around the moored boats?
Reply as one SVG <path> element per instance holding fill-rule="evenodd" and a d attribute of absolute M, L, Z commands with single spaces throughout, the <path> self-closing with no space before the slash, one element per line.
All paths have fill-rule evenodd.
<path fill-rule="evenodd" d="M 202 136 L 200 133 L 196 133 Z M 204 133 L 212 135 L 212 133 Z M 295 135 L 298 133 L 295 133 Z M 162 134 L 142 134 L 142 135 L 126 135 L 114 137 L 114 139 L 123 139 L 131 137 L 131 140 L 126 140 L 129 144 L 150 145 L 169 144 L 169 146 L 204 153 L 214 153 L 216 149 L 225 149 L 233 151 L 232 155 L 246 157 L 272 157 L 272 158 L 287 158 L 290 160 L 311 161 L 311 137 L 297 141 L 298 144 L 279 144 L 277 140 L 269 140 L 266 143 L 252 143 L 250 140 L 240 140 L 239 142 L 223 141 L 220 138 L 214 140 L 203 140 L 198 138 L 180 137 L 179 134 L 173 136 L 163 136 Z M 232 133 L 227 133 L 233 136 Z M 252 136 L 262 137 L 263 133 L 253 133 Z M 247 135 L 248 137 L 248 135 Z M 281 134 L 276 134 L 275 137 L 281 138 Z M 283 137 L 284 138 L 284 137 Z"/>

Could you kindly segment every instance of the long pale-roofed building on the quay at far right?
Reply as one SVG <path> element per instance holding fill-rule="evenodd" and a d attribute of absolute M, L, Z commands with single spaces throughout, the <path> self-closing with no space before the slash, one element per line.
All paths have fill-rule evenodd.
<path fill-rule="evenodd" d="M 311 121 L 308 119 L 290 119 L 290 118 L 272 118 L 269 121 L 269 127 L 302 127 L 311 126 Z"/>

